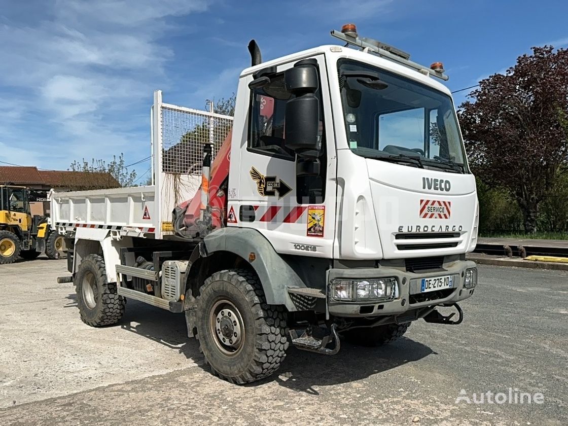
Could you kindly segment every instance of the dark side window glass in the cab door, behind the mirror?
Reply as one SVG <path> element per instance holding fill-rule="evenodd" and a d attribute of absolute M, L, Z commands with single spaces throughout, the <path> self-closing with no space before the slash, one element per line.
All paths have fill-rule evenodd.
<path fill-rule="evenodd" d="M 286 102 L 291 97 L 284 90 L 283 73 L 272 77 L 265 87 L 252 90 L 249 151 L 294 160 L 294 152 L 284 144 Z"/>

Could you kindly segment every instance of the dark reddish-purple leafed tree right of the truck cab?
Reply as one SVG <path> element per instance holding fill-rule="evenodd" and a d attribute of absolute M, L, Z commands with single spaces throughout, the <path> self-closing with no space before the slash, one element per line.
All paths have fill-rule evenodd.
<path fill-rule="evenodd" d="M 568 50 L 532 51 L 479 82 L 458 111 L 474 172 L 509 191 L 527 233 L 568 156 Z"/>

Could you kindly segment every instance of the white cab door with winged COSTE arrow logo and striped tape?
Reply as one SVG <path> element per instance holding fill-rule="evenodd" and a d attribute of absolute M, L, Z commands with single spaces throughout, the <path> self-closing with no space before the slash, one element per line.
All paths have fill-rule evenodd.
<path fill-rule="evenodd" d="M 300 60 L 306 58 L 271 68 L 267 75 L 270 82 L 263 87 L 249 89 L 254 76 L 241 77 L 239 95 L 246 91 L 249 102 L 240 149 L 233 143 L 231 152 L 231 176 L 239 176 L 239 185 L 233 193 L 229 190 L 228 224 L 258 229 L 278 253 L 331 258 L 335 237 L 335 139 L 323 54 L 312 58 L 320 80 L 315 93 L 320 102 L 322 142 L 319 174 L 298 176 L 296 155 L 285 143 L 286 103 L 293 95 L 286 91 L 284 72 Z M 237 158 L 239 161 L 235 161 Z"/>

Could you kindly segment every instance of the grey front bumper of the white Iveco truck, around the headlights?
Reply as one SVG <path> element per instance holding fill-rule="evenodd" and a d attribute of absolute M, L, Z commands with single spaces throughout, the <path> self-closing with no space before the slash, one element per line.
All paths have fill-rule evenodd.
<path fill-rule="evenodd" d="M 452 304 L 469 298 L 475 288 L 466 289 L 464 286 L 465 272 L 475 268 L 475 262 L 460 260 L 444 265 L 444 270 L 424 273 L 406 272 L 396 268 L 381 266 L 380 268 L 364 269 L 330 269 L 327 282 L 332 279 L 373 279 L 395 277 L 398 285 L 398 298 L 387 302 L 371 302 L 358 300 L 345 302 L 330 297 L 327 291 L 328 312 L 338 317 L 368 317 L 383 315 L 400 315 L 407 311 L 426 312 L 420 308 L 432 307 L 439 304 Z M 452 289 L 420 293 L 420 279 L 453 275 Z"/>

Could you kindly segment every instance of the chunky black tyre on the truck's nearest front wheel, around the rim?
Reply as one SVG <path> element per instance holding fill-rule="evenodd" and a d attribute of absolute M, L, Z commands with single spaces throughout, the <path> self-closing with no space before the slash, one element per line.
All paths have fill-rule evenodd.
<path fill-rule="evenodd" d="M 286 312 L 283 306 L 266 303 L 256 274 L 246 269 L 216 272 L 199 291 L 196 337 L 211 372 L 240 384 L 260 380 L 278 370 L 289 346 Z M 212 312 L 223 300 L 233 304 L 243 323 L 242 344 L 233 354 L 219 349 L 220 340 L 212 330 Z"/>

